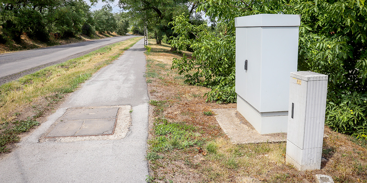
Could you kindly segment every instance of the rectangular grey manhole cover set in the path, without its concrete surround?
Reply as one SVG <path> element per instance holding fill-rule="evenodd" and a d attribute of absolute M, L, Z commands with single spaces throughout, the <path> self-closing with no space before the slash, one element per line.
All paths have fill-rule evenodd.
<path fill-rule="evenodd" d="M 70 108 L 46 137 L 112 135 L 118 112 L 119 107 Z"/>

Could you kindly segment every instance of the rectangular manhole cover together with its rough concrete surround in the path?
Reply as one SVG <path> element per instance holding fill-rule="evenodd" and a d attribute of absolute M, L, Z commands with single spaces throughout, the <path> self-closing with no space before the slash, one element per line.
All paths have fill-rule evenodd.
<path fill-rule="evenodd" d="M 131 125 L 130 105 L 69 108 L 42 141 L 121 139 Z"/>

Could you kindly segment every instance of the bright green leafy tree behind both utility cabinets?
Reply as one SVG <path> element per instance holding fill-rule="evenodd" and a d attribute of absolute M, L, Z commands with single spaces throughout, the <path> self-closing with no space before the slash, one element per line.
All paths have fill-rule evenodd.
<path fill-rule="evenodd" d="M 211 47 L 215 48 L 218 44 L 222 44 L 226 46 L 228 52 L 233 53 L 235 44 L 230 40 L 235 37 L 235 17 L 261 13 L 302 15 L 299 27 L 298 70 L 310 70 L 329 76 L 326 123 L 335 130 L 353 132 L 359 136 L 366 135 L 367 6 L 363 0 L 203 0 L 197 11 L 206 11 L 213 22 L 225 24 L 226 32 L 222 35 L 227 36 L 208 33 L 210 36 L 197 34 L 199 36 L 194 40 L 189 40 L 187 36 L 183 38 L 189 31 L 195 34 L 195 29 L 200 27 L 191 26 L 188 21 L 182 22 L 181 17 L 176 18 L 173 23 L 175 31 L 180 35 L 172 44 L 177 46 L 186 44 L 195 48 L 195 44 L 205 45 L 205 42 L 217 37 L 223 41 L 214 41 Z M 187 27 L 188 30 L 182 31 L 183 27 Z M 186 74 L 186 78 L 188 82 L 205 85 L 208 83 L 205 80 L 215 81 L 213 78 L 222 75 L 210 67 L 210 64 L 217 60 L 211 58 L 212 52 L 197 51 L 199 48 L 195 48 L 198 54 L 197 61 L 182 59 L 176 61 L 174 67 L 181 69 L 182 73 L 186 72 L 183 68 L 200 67 L 195 74 Z M 185 47 L 181 46 L 181 49 Z M 206 46 L 200 49 L 209 50 Z M 223 56 L 223 60 L 228 64 L 222 65 L 221 70 L 231 71 L 231 74 L 227 75 L 226 80 L 212 82 L 210 84 L 212 91 L 208 96 L 209 100 L 230 102 L 229 96 L 235 94 L 233 87 L 230 87 L 234 85 L 232 76 L 235 59 L 231 54 Z M 202 80 L 198 81 L 195 75 L 203 76 Z M 229 94 L 226 96 L 218 94 L 218 92 L 225 93 L 223 91 Z M 345 116 L 346 114 L 348 116 Z"/>

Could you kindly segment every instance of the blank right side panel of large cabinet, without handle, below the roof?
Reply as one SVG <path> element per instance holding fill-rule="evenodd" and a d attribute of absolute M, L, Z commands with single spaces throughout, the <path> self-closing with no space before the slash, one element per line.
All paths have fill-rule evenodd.
<path fill-rule="evenodd" d="M 297 71 L 298 27 L 262 27 L 260 112 L 287 111 L 289 73 Z"/>

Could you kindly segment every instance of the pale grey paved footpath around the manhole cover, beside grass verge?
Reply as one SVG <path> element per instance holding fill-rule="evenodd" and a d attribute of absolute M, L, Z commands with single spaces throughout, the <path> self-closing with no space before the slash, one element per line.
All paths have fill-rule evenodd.
<path fill-rule="evenodd" d="M 143 51 L 140 40 L 84 83 L 47 122 L 23 138 L 17 149 L 1 158 L 0 182 L 145 182 L 149 98 Z M 116 126 L 121 132 L 40 140 L 69 108 L 77 107 L 123 109 L 117 117 L 123 123 Z"/>

